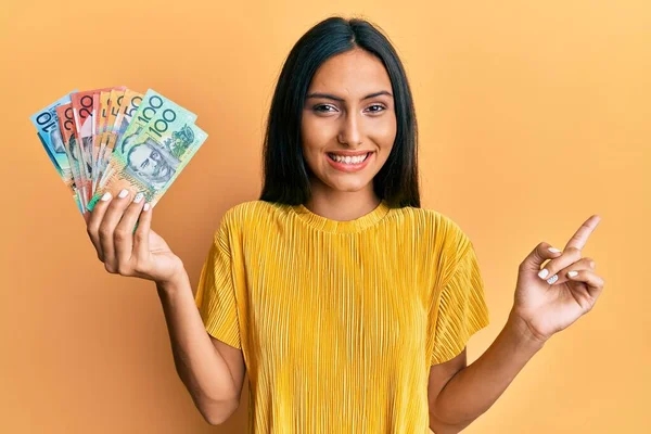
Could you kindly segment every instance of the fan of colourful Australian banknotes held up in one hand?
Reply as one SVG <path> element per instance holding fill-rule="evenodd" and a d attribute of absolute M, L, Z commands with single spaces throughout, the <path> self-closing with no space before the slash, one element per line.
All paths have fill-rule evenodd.
<path fill-rule="evenodd" d="M 153 207 L 208 137 L 194 113 L 124 86 L 75 90 L 30 120 L 81 214 L 124 188 Z"/>

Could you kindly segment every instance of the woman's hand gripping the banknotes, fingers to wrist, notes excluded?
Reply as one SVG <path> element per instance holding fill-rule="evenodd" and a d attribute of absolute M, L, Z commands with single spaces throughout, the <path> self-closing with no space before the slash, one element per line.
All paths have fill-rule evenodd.
<path fill-rule="evenodd" d="M 174 280 L 184 272 L 181 259 L 171 253 L 161 235 L 151 230 L 152 208 L 148 206 L 149 209 L 143 209 L 143 195 L 139 193 L 135 196 L 132 192 L 125 191 L 125 197 L 118 195 L 100 200 L 92 212 L 84 214 L 98 258 L 111 273 L 157 283 Z M 139 217 L 138 229 L 133 232 Z"/>

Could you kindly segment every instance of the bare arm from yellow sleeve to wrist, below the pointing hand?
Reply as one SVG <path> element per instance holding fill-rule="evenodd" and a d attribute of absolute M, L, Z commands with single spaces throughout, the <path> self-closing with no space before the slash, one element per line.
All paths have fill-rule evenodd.
<path fill-rule="evenodd" d="M 486 352 L 469 367 L 465 352 L 450 360 L 460 369 L 445 386 L 430 394 L 430 427 L 436 434 L 458 433 L 484 413 L 511 384 L 526 362 L 542 348 L 526 324 L 511 311 Z M 448 363 L 448 362 L 446 362 Z M 442 363 L 442 365 L 446 365 Z M 437 369 L 436 366 L 433 369 Z M 430 382 L 432 388 L 432 381 Z"/>

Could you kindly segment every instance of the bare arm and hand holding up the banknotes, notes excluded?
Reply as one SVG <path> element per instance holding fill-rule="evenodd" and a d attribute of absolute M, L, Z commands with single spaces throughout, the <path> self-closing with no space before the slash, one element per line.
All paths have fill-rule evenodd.
<path fill-rule="evenodd" d="M 242 352 L 207 333 L 183 263 L 151 229 L 153 209 L 142 193 L 132 201 L 130 194 L 124 190 L 112 200 L 106 192 L 85 214 L 87 232 L 106 271 L 156 282 L 176 370 L 202 416 L 221 423 L 240 403 Z"/>

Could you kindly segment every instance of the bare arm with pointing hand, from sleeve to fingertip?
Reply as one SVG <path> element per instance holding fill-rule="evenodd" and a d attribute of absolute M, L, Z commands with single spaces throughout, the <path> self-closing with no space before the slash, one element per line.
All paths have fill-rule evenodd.
<path fill-rule="evenodd" d="M 472 423 L 490 408 L 549 337 L 592 309 L 604 280 L 593 272 L 595 261 L 582 257 L 582 250 L 600 219 L 590 216 L 562 252 L 541 242 L 520 264 L 515 303 L 495 342 L 470 367 L 460 362 L 463 366 L 441 393 L 429 391 L 430 425 L 436 434 L 458 433 Z M 541 275 L 540 268 L 548 259 L 547 273 Z M 571 270 L 577 272 L 572 279 L 567 275 Z M 548 276 L 551 278 L 545 280 Z"/>

